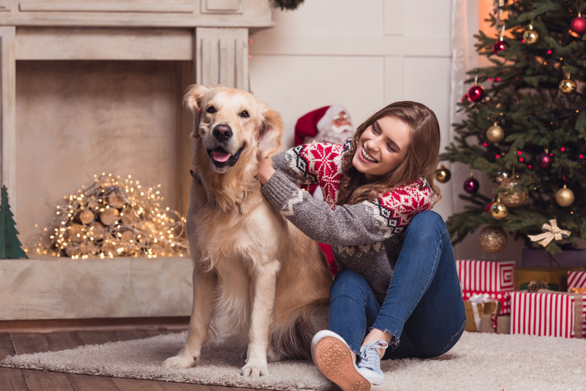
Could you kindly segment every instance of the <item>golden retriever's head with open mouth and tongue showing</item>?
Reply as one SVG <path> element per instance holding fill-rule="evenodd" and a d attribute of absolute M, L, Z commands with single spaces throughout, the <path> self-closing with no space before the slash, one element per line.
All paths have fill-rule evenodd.
<path fill-rule="evenodd" d="M 227 172 L 244 155 L 250 161 L 257 152 L 271 156 L 281 147 L 281 116 L 244 90 L 194 84 L 183 102 L 194 114 L 191 136 L 216 172 Z"/>

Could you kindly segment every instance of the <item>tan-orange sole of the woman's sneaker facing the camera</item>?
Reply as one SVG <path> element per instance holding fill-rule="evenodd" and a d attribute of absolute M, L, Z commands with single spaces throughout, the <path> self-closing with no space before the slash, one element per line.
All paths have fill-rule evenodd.
<path fill-rule="evenodd" d="M 324 337 L 315 347 L 315 364 L 343 391 L 369 391 L 369 381 L 354 367 L 348 347 L 333 337 Z"/>

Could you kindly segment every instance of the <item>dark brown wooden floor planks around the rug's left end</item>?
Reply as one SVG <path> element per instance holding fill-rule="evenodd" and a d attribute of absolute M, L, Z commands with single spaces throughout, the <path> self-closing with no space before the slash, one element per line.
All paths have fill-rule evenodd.
<path fill-rule="evenodd" d="M 53 331 L 0 332 L 0 360 L 12 354 L 35 353 L 47 350 L 106 343 L 108 341 L 146 338 L 165 334 L 169 330 L 117 331 Z M 122 379 L 104 376 L 67 374 L 38 370 L 19 370 L 0 367 L 1 391 L 251 391 L 251 388 L 230 388 L 211 385 L 169 383 Z"/>

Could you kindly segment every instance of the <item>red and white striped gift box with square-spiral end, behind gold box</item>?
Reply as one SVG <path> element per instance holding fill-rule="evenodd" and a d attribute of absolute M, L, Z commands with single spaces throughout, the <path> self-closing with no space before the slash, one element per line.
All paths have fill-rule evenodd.
<path fill-rule="evenodd" d="M 513 291 L 515 261 L 457 260 L 456 269 L 462 290 Z"/>

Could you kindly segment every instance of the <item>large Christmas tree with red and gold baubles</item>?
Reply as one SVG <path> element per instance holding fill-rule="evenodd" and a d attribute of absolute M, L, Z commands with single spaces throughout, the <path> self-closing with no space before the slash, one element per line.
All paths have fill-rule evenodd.
<path fill-rule="evenodd" d="M 448 229 L 453 243 L 484 226 L 493 239 L 509 233 L 557 253 L 586 239 L 586 7 L 568 0 L 495 3 L 486 19 L 495 33 L 475 35 L 477 53 L 490 65 L 467 72 L 464 120 L 453 125 L 455 141 L 440 157 L 495 185 L 479 191 L 477 179 L 463 178 L 466 206 L 448 218 Z M 437 174 L 446 181 L 450 172 L 440 167 Z M 549 233 L 529 237 L 542 230 Z M 485 251 L 502 250 L 484 248 L 483 233 Z"/>

